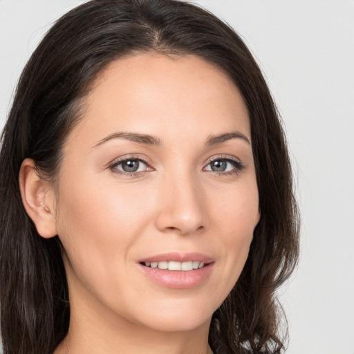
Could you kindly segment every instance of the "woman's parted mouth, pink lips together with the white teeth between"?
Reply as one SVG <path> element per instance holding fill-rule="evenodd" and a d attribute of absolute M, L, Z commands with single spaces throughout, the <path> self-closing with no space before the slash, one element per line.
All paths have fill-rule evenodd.
<path fill-rule="evenodd" d="M 147 278 L 167 288 L 194 288 L 205 282 L 214 268 L 214 259 L 205 254 L 171 252 L 139 261 Z"/>

